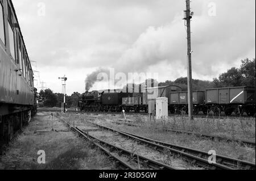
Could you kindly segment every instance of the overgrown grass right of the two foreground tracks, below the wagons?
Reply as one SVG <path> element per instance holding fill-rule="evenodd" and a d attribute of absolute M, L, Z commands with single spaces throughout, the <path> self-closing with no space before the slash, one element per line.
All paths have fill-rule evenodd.
<path fill-rule="evenodd" d="M 139 127 L 129 127 L 127 125 L 113 124 L 114 122 L 124 121 L 122 115 L 66 115 L 70 119 L 75 119 L 77 125 L 84 125 L 88 120 L 95 121 L 103 125 L 112 126 L 122 131 L 139 134 L 154 140 L 169 142 L 170 144 L 186 146 L 203 151 L 216 150 L 219 155 L 242 159 L 255 163 L 255 149 L 243 147 L 236 142 L 225 142 L 218 140 L 208 140 L 187 134 L 177 134 L 166 132 L 164 128 L 179 129 L 197 133 L 213 134 L 216 136 L 255 140 L 255 119 L 203 119 L 196 118 L 189 121 L 187 117 L 170 117 L 168 121 L 149 121 L 147 116 L 127 115 L 127 120 Z M 121 122 L 122 123 L 122 122 Z M 156 129 L 158 128 L 158 129 Z M 168 155 L 168 154 L 167 154 Z"/>

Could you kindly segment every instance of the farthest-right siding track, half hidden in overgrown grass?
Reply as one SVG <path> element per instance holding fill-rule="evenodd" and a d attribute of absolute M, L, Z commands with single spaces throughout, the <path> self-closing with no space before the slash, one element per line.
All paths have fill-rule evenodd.
<path fill-rule="evenodd" d="M 112 122 L 114 124 L 125 124 L 129 127 L 140 127 L 140 125 L 131 124 L 132 121 L 126 121 L 125 123 L 117 123 Z M 158 128 L 155 128 L 158 129 Z M 195 135 L 196 137 L 203 137 L 210 140 L 218 140 L 218 141 L 226 141 L 226 142 L 236 142 L 237 144 L 240 144 L 242 146 L 248 146 L 250 148 L 255 148 L 255 141 L 249 141 L 249 140 L 241 140 L 241 139 L 231 139 L 231 138 L 225 138 L 220 136 L 213 136 L 210 134 L 204 134 L 204 133 L 195 133 L 195 132 L 188 132 L 188 131 L 181 131 L 181 130 L 175 130 L 175 129 L 168 129 L 164 128 L 163 131 L 167 132 L 174 132 L 174 133 L 181 133 L 181 134 L 188 134 L 188 135 Z"/>

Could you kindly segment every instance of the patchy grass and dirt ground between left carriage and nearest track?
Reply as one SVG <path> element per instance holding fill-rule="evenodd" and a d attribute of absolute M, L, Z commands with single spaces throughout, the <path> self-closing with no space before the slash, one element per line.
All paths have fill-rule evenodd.
<path fill-rule="evenodd" d="M 52 131 L 52 128 L 55 131 Z M 38 163 L 38 151 L 46 153 L 46 163 Z M 7 169 L 114 169 L 100 151 L 70 132 L 58 119 L 38 113 L 18 138 L 0 155 L 0 170 Z"/>

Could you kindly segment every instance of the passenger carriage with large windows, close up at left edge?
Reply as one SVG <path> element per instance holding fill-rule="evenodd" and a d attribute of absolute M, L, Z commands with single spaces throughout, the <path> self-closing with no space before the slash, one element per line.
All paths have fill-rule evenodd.
<path fill-rule="evenodd" d="M 0 0 L 0 148 L 37 112 L 33 76 L 13 3 Z"/>

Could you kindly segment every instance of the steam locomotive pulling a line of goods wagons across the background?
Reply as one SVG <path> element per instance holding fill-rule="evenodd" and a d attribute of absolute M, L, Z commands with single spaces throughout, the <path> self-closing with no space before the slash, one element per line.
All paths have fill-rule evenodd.
<path fill-rule="evenodd" d="M 159 97 L 168 98 L 168 111 L 180 114 L 188 113 L 188 92 L 181 91 L 179 86 L 151 87 L 139 93 L 86 92 L 80 96 L 79 107 L 81 111 L 108 111 L 119 112 L 147 112 L 148 102 Z M 227 116 L 236 113 L 248 116 L 255 115 L 255 87 L 227 87 L 220 89 L 207 89 L 193 92 L 193 113 L 197 115 L 202 111 L 220 115 L 225 112 Z"/>

